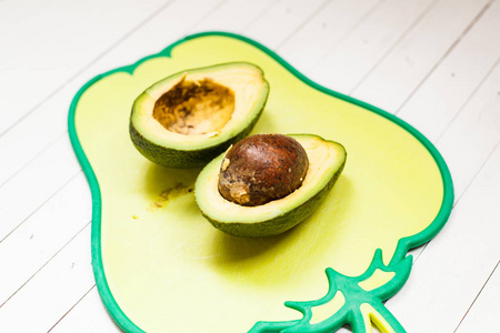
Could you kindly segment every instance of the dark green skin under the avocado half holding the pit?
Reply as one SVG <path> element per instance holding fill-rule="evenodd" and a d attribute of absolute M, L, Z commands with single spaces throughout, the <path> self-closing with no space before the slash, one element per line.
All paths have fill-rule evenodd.
<path fill-rule="evenodd" d="M 201 214 L 217 229 L 223 231 L 228 234 L 241 238 L 261 238 L 261 236 L 272 236 L 280 233 L 283 233 L 307 218 L 311 215 L 321 202 L 324 200 L 327 194 L 331 191 L 337 180 L 339 179 L 342 170 L 346 165 L 346 160 L 340 165 L 339 170 L 333 174 L 330 181 L 324 185 L 321 191 L 319 191 L 314 196 L 297 206 L 296 209 L 280 215 L 273 218 L 271 220 L 267 220 L 259 223 L 221 223 L 218 222 L 203 212 Z"/>

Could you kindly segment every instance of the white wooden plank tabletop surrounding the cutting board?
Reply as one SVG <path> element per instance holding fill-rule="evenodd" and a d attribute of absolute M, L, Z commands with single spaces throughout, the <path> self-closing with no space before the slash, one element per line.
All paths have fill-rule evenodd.
<path fill-rule="evenodd" d="M 0 332 L 119 331 L 94 285 L 68 109 L 94 75 L 208 30 L 263 43 L 436 144 L 454 209 L 387 306 L 408 332 L 500 332 L 493 0 L 0 0 Z"/>

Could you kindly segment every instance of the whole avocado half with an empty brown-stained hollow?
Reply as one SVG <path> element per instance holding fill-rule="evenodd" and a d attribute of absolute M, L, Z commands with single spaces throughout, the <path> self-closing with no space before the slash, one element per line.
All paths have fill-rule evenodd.
<path fill-rule="evenodd" d="M 262 70 L 251 63 L 179 72 L 136 99 L 130 138 L 160 165 L 201 167 L 250 133 L 268 95 Z"/>

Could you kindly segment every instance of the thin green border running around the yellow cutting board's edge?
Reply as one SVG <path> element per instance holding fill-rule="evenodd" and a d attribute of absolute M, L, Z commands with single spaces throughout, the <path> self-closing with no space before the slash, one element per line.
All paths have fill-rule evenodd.
<path fill-rule="evenodd" d="M 201 32 L 201 33 L 188 36 L 188 37 L 180 39 L 180 40 L 176 41 L 174 43 L 170 44 L 162 51 L 160 51 L 156 54 L 144 57 L 133 64 L 117 68 L 114 70 L 108 71 L 106 73 L 94 77 L 93 79 L 88 81 L 86 84 L 83 84 L 83 87 L 80 88 L 80 90 L 74 95 L 74 98 L 71 102 L 70 109 L 69 109 L 69 114 L 68 114 L 69 137 L 71 140 L 71 144 L 73 147 L 74 153 L 76 153 L 76 155 L 81 164 L 81 168 L 87 176 L 87 180 L 88 180 L 88 183 L 90 186 L 90 191 L 91 191 L 91 195 L 92 195 L 92 230 L 91 230 L 91 252 L 92 253 L 91 254 L 92 254 L 92 268 L 93 268 L 93 274 L 96 278 L 96 284 L 97 284 L 99 294 L 102 299 L 102 302 L 104 303 L 106 307 L 108 309 L 108 312 L 110 313 L 111 317 L 126 332 L 143 332 L 143 331 L 140 327 L 138 327 L 120 309 L 120 306 L 118 305 L 117 301 L 114 300 L 114 297 L 110 291 L 110 287 L 108 285 L 108 282 L 107 282 L 107 279 L 104 275 L 102 256 L 101 256 L 101 242 L 100 242 L 100 240 L 101 240 L 101 193 L 100 193 L 100 188 L 99 188 L 99 183 L 97 181 L 96 174 L 94 174 L 92 167 L 90 165 L 89 160 L 87 159 L 87 157 L 83 152 L 83 149 L 80 144 L 80 141 L 78 139 L 76 123 L 74 123 L 74 114 L 76 114 L 76 110 L 77 110 L 77 104 L 78 104 L 81 95 L 83 94 L 83 92 L 89 87 L 94 84 L 97 81 L 99 81 L 110 74 L 113 74 L 116 72 L 127 72 L 127 73 L 131 74 L 131 73 L 133 73 L 134 69 L 137 67 L 139 67 L 142 62 L 144 62 L 149 59 L 152 59 L 152 58 L 158 58 L 158 57 L 169 57 L 170 58 L 171 51 L 177 46 L 181 44 L 184 41 L 200 38 L 200 37 L 206 37 L 206 36 L 229 37 L 229 38 L 241 40 L 243 42 L 247 42 L 247 43 L 260 49 L 261 51 L 266 52 L 268 56 L 273 58 L 278 63 L 283 65 L 288 71 L 290 71 L 293 75 L 296 75 L 303 83 L 306 83 L 323 93 L 332 95 L 337 99 L 344 100 L 349 103 L 359 105 L 366 110 L 374 112 L 374 113 L 390 120 L 391 122 L 393 122 L 393 123 L 398 124 L 399 127 L 403 128 L 404 130 L 407 130 L 423 147 L 426 147 L 426 149 L 429 151 L 429 153 L 434 159 L 434 161 L 440 170 L 440 173 L 441 173 L 442 184 L 443 184 L 442 204 L 441 204 L 441 208 L 440 208 L 439 213 L 437 214 L 436 219 L 432 221 L 432 223 L 427 229 L 424 229 L 423 231 L 421 231 L 418 234 L 414 234 L 414 235 L 411 235 L 408 238 L 403 238 L 398 242 L 398 246 L 394 251 L 394 254 L 393 254 L 389 265 L 402 261 L 410 249 L 417 248 L 417 246 L 430 241 L 443 228 L 443 225 L 448 221 L 448 218 L 451 213 L 451 209 L 453 205 L 453 201 L 454 201 L 453 182 L 452 182 L 448 165 L 444 162 L 442 155 L 439 153 L 439 151 L 436 149 L 436 147 L 423 134 L 421 134 L 419 131 L 417 131 L 413 127 L 411 127 L 403 120 L 399 119 L 398 117 L 396 117 L 387 111 L 383 111 L 377 107 L 373 107 L 369 103 L 366 103 L 366 102 L 359 101 L 357 99 L 353 99 L 349 95 L 332 91 L 328 88 L 324 88 L 324 87 L 311 81 L 310 79 L 304 77 L 302 73 L 300 73 L 298 70 L 296 70 L 291 64 L 289 64 L 282 58 L 280 58 L 277 53 L 274 53 L 270 49 L 266 48 L 264 46 L 262 46 L 259 42 L 251 40 L 249 38 L 246 38 L 246 37 L 239 36 L 239 34 L 234 34 L 234 33 L 220 32 L 220 31 L 209 31 L 209 32 Z M 398 290 L 400 287 L 402 287 L 402 285 L 399 285 Z"/>

